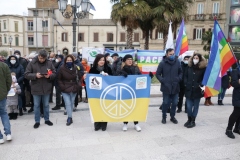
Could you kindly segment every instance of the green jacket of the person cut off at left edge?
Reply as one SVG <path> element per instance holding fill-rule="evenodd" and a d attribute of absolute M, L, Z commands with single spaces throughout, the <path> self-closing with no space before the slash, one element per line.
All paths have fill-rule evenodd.
<path fill-rule="evenodd" d="M 0 62 L 0 101 L 7 98 L 8 91 L 12 85 L 12 76 L 8 66 Z"/>

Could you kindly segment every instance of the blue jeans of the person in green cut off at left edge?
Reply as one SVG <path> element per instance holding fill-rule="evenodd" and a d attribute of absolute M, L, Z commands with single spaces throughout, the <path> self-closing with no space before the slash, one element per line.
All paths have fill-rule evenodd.
<path fill-rule="evenodd" d="M 11 125 L 9 122 L 9 117 L 6 109 L 6 98 L 0 101 L 0 116 L 2 119 L 4 131 L 5 131 L 4 134 L 5 135 L 11 134 Z M 1 131 L 0 131 L 0 139 L 3 139 L 3 135 Z"/>

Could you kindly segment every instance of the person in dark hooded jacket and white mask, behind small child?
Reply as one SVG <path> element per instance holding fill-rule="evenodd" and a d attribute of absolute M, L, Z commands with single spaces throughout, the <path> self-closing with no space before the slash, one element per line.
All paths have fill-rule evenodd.
<path fill-rule="evenodd" d="M 16 74 L 17 78 L 17 83 L 20 86 L 21 90 L 23 90 L 23 81 L 24 81 L 24 68 L 23 66 L 19 63 L 19 59 L 15 56 L 9 56 L 7 60 L 9 69 L 11 72 L 14 72 Z M 18 108 L 19 108 L 19 116 L 23 115 L 23 100 L 22 100 L 22 94 L 20 93 L 18 96 Z"/>

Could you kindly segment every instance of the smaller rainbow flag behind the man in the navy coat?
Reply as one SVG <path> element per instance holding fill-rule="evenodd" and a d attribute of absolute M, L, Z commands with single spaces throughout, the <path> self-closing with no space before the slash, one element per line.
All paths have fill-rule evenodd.
<path fill-rule="evenodd" d="M 177 56 L 180 56 L 186 51 L 188 51 L 188 39 L 185 31 L 184 20 L 182 20 L 177 36 L 175 53 Z"/>

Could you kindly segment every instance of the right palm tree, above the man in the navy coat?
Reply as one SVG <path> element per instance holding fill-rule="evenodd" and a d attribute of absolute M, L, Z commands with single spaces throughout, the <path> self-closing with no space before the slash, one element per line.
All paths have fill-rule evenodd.
<path fill-rule="evenodd" d="M 177 26 L 181 23 L 182 18 L 188 20 L 188 8 L 193 0 L 157 0 L 158 5 L 153 9 L 153 22 L 157 29 L 163 33 L 164 43 L 166 46 L 169 22 L 172 21 L 172 29 L 176 33 Z"/>

